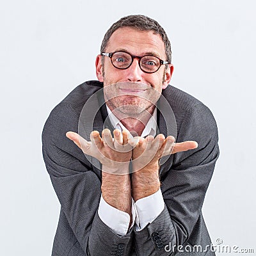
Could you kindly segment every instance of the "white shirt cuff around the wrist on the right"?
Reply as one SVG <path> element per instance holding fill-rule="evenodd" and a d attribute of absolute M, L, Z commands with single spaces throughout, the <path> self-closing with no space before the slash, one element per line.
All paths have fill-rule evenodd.
<path fill-rule="evenodd" d="M 136 219 L 135 230 L 140 231 L 145 228 L 148 223 L 156 220 L 157 216 L 164 210 L 164 198 L 161 189 L 153 195 L 139 199 L 135 203 Z"/>

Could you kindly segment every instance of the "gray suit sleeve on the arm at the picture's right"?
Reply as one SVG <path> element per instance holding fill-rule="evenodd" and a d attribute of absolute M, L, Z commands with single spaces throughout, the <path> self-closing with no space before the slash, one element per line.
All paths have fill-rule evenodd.
<path fill-rule="evenodd" d="M 195 140 L 198 148 L 174 154 L 172 166 L 161 173 L 164 210 L 143 230 L 134 232 L 139 256 L 174 255 L 188 241 L 219 156 L 216 122 L 204 104 L 186 111 L 177 132 L 177 142 Z M 164 250 L 166 245 L 168 250 Z"/>

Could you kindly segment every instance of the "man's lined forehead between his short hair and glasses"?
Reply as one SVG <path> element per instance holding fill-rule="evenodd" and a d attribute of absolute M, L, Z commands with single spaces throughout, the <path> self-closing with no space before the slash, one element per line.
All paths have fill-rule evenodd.
<path fill-rule="evenodd" d="M 164 42 L 154 31 L 119 28 L 110 36 L 106 52 L 128 51 L 133 55 L 154 54 L 165 58 Z"/>

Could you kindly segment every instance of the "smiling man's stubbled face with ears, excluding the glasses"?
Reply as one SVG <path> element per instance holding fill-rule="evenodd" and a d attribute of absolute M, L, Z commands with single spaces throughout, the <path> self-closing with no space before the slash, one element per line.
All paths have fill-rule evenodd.
<path fill-rule="evenodd" d="M 155 35 L 152 31 L 117 29 L 109 38 L 105 52 L 116 51 L 129 52 L 132 56 L 154 55 L 166 61 L 164 42 L 160 35 Z M 170 82 L 172 65 L 167 70 L 165 65 L 161 65 L 157 72 L 148 74 L 140 69 L 138 58 L 134 58 L 127 69 L 115 68 L 107 56 L 104 56 L 102 67 L 101 58 L 102 56 L 97 56 L 96 73 L 99 81 L 104 82 L 105 99 L 111 111 L 117 108 L 127 115 L 136 115 L 145 109 L 154 109 L 152 102 L 159 99 L 162 90 Z M 110 84 L 115 85 L 107 87 Z"/>

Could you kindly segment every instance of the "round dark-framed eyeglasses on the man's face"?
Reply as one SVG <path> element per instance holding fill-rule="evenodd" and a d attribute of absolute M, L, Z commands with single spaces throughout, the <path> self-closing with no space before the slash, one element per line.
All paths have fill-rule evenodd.
<path fill-rule="evenodd" d="M 159 70 L 161 65 L 169 64 L 168 61 L 163 61 L 156 56 L 132 56 L 128 52 L 102 52 L 103 56 L 108 56 L 114 67 L 118 69 L 126 69 L 132 65 L 134 58 L 139 59 L 139 66 L 145 73 L 154 73 Z"/>

